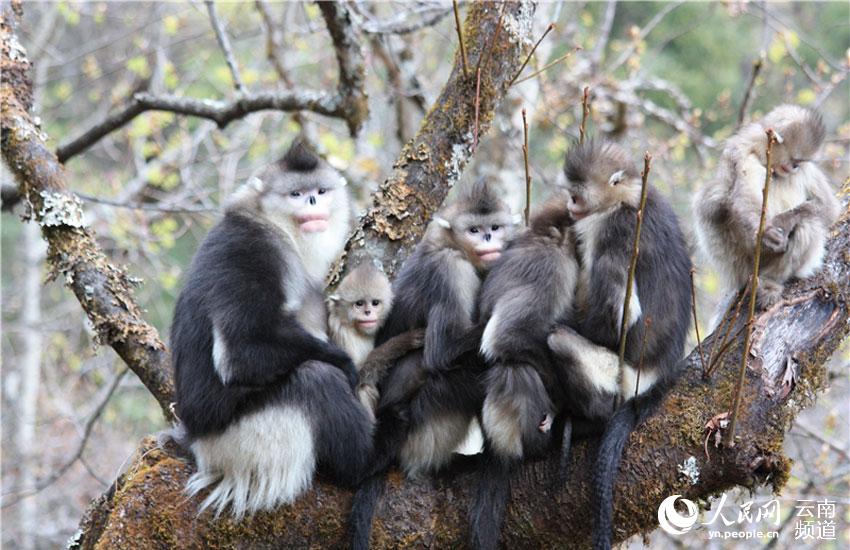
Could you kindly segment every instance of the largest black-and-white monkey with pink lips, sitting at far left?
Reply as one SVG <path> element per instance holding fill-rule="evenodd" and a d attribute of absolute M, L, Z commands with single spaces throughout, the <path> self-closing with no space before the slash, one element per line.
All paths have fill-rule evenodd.
<path fill-rule="evenodd" d="M 327 341 L 324 276 L 349 230 L 345 180 L 300 142 L 231 198 L 201 244 L 171 330 L 177 414 L 200 510 L 272 509 L 317 467 L 355 484 L 373 422 Z"/>

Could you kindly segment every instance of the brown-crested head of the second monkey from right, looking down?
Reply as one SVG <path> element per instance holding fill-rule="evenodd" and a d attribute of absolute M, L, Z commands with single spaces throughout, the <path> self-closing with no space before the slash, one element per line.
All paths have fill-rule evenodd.
<path fill-rule="evenodd" d="M 567 207 L 574 220 L 618 206 L 636 205 L 640 178 L 626 152 L 613 143 L 578 145 L 564 165 Z"/>

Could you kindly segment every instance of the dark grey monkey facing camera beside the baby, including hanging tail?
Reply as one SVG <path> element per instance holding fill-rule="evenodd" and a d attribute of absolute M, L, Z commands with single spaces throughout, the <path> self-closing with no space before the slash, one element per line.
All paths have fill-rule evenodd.
<path fill-rule="evenodd" d="M 484 181 L 461 190 L 428 225 L 393 284 L 393 308 L 376 344 L 424 328 L 424 349 L 396 361 L 378 383 L 372 475 L 351 512 L 355 549 L 368 547 L 387 469 L 398 461 L 416 477 L 445 466 L 480 410 L 478 369 L 456 365 L 454 345 L 473 326 L 481 278 L 515 222 Z"/>

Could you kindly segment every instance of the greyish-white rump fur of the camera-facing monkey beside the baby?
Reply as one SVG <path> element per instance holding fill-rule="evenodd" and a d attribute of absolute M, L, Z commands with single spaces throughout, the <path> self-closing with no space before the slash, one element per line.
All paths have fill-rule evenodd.
<path fill-rule="evenodd" d="M 468 418 L 446 415 L 411 432 L 400 454 L 407 476 L 417 478 L 448 464 L 452 452 L 466 438 L 468 428 Z"/>

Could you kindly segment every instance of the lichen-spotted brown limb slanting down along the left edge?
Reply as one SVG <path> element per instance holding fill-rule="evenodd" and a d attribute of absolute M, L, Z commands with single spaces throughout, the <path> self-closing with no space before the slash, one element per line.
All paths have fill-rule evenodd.
<path fill-rule="evenodd" d="M 142 319 L 133 298 L 136 283 L 104 256 L 83 224 L 79 200 L 68 191 L 62 165 L 30 117 L 32 82 L 26 52 L 13 31 L 8 8 L 0 15 L 0 128 L 3 159 L 48 244 L 51 277 L 62 276 L 97 332 L 138 375 L 172 418 L 173 383 L 168 352 L 155 328 Z"/>

